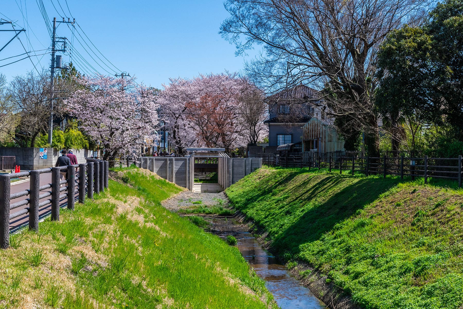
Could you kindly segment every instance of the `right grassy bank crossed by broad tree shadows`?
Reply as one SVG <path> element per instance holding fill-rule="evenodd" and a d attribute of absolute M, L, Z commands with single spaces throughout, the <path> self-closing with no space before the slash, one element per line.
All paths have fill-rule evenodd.
<path fill-rule="evenodd" d="M 338 173 L 260 169 L 226 193 L 288 267 L 313 265 L 365 308 L 462 308 L 463 191 Z"/>

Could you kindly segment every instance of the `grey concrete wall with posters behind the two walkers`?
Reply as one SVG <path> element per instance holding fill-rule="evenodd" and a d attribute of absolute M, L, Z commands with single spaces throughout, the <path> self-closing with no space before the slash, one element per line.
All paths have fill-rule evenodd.
<path fill-rule="evenodd" d="M 39 150 L 35 147 L 1 147 L 0 156 L 15 156 L 16 165 L 20 165 L 21 170 L 40 170 L 55 166 L 59 151 L 47 148 L 47 158 L 40 159 Z M 78 163 L 85 163 L 85 158 L 90 157 L 92 153 L 93 151 L 88 149 L 74 151 Z"/>

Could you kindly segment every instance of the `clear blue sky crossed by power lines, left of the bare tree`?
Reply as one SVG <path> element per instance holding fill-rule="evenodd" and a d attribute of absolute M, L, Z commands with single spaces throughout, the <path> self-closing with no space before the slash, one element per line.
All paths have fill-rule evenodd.
<path fill-rule="evenodd" d="M 25 34 L 20 34 L 26 51 L 43 50 L 51 45 L 50 35 L 37 2 L 39 0 L 3 0 L 0 7 L 0 18 L 12 19 L 19 28 L 25 27 L 27 30 L 30 44 Z M 235 57 L 234 45 L 218 34 L 221 22 L 228 16 L 220 0 L 67 0 L 72 15 L 65 0 L 43 0 L 43 4 L 50 25 L 53 17 L 57 17 L 57 20 L 63 20 L 61 16 L 74 17 L 96 48 L 115 67 L 130 73 L 131 76 L 137 76 L 138 82 L 153 87 L 160 88 L 162 83 L 169 82 L 169 77 L 190 78 L 200 73 L 220 73 L 225 70 L 234 72 L 243 68 L 244 58 Z M 77 26 L 76 28 L 80 31 Z M 0 25 L 0 29 L 12 28 L 10 25 Z M 80 34 L 85 38 L 82 32 Z M 13 35 L 14 32 L 0 32 L 1 46 Z M 92 60 L 85 51 L 88 50 L 96 62 L 114 74 L 113 70 L 116 69 L 107 63 L 90 42 L 87 42 L 113 70 L 102 64 L 76 32 L 73 36 L 67 25 L 58 26 L 57 36 L 67 37 L 69 40 L 74 37 L 75 50 L 89 63 L 86 64 L 80 59 L 82 64 L 79 65 L 77 60 L 74 61 L 78 69 L 90 73 L 94 71 L 90 68 L 92 65 L 101 74 L 109 75 Z M 15 39 L 0 52 L 0 59 L 24 52 L 19 40 Z M 36 54 L 44 52 L 46 50 L 38 51 Z M 0 66 L 23 57 L 25 55 L 1 60 Z M 74 57 L 79 59 L 78 56 Z M 50 58 L 50 54 L 31 57 L 33 63 L 38 64 L 36 67 L 39 70 L 41 67 L 49 68 Z M 69 62 L 69 55 L 63 55 L 63 60 Z M 11 79 L 31 69 L 34 69 L 33 64 L 29 59 L 25 59 L 0 67 L 0 73 Z"/>

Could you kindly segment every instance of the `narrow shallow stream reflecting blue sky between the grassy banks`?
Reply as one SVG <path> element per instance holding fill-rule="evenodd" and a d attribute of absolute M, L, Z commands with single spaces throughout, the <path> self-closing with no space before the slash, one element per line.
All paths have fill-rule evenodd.
<path fill-rule="evenodd" d="M 266 282 L 267 289 L 275 297 L 282 309 L 304 308 L 324 309 L 326 305 L 278 263 L 275 256 L 265 250 L 248 232 L 247 228 L 235 219 L 213 218 L 209 232 L 224 238 L 233 235 L 238 240 L 238 249 L 257 275 Z"/>

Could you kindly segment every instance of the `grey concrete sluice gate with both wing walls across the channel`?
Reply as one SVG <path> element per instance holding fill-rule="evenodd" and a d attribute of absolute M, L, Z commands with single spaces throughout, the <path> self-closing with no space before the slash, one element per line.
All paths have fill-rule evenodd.
<path fill-rule="evenodd" d="M 185 157 L 141 157 L 139 167 L 196 192 L 218 192 L 262 167 L 262 158 L 230 158 L 224 148 L 187 148 Z M 217 183 L 194 183 L 195 165 L 217 170 Z"/>

